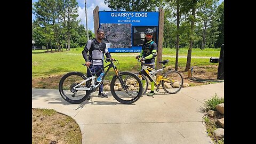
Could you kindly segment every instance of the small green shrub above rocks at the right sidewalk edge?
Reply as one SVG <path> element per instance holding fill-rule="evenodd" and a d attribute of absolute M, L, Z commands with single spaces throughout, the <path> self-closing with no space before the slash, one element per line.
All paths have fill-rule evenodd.
<path fill-rule="evenodd" d="M 215 106 L 219 105 L 220 103 L 224 103 L 224 99 L 223 98 L 219 98 L 217 96 L 217 94 L 215 93 L 215 95 L 209 99 L 209 100 L 204 100 L 204 106 L 205 106 L 205 110 L 216 110 Z"/>

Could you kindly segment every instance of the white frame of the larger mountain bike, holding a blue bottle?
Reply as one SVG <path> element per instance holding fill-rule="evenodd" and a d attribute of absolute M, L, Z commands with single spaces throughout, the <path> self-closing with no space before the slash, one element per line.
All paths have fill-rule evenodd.
<path fill-rule="evenodd" d="M 84 64 L 82 64 L 82 65 L 84 65 Z M 84 66 L 85 66 L 85 65 L 84 65 Z M 107 68 L 107 67 L 108 67 L 108 69 L 107 69 L 106 73 L 104 73 L 104 75 L 102 76 L 100 82 L 95 85 L 95 76 L 93 76 L 93 75 L 100 73 L 100 71 L 101 71 L 102 69 L 105 69 L 105 68 Z M 92 71 L 89 69 L 89 67 L 87 67 L 87 69 L 89 69 L 89 71 L 90 71 L 90 73 L 91 73 L 92 76 L 89 77 L 89 78 L 87 78 L 87 79 L 85 79 L 83 82 L 77 84 L 76 86 L 74 86 L 73 89 L 74 89 L 74 90 L 85 90 L 85 91 L 89 91 L 89 90 L 91 90 L 91 87 L 95 87 L 95 88 L 99 87 L 99 86 L 103 83 L 103 79 L 104 79 L 105 76 L 107 75 L 109 69 L 112 68 L 112 67 L 113 67 L 113 69 L 114 69 L 116 75 L 119 76 L 119 71 L 118 71 L 117 67 L 114 65 L 114 63 L 113 63 L 112 61 L 110 61 L 109 65 L 103 67 L 102 69 L 100 69 L 100 70 L 99 70 L 98 72 L 96 72 L 96 73 L 92 73 Z M 87 87 L 87 88 L 85 88 L 85 87 L 78 87 L 78 88 L 77 88 L 77 86 L 79 86 L 79 85 L 81 85 L 81 84 L 84 84 L 84 83 L 86 83 L 87 81 L 90 81 L 91 79 L 92 79 L 92 85 L 91 85 L 91 87 Z"/>

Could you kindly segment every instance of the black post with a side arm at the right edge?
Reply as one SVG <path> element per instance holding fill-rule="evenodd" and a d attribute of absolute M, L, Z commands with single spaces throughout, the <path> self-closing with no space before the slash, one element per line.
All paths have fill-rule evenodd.
<path fill-rule="evenodd" d="M 217 79 L 224 79 L 224 44 L 220 48 L 220 58 L 210 58 L 211 63 L 219 63 Z"/>

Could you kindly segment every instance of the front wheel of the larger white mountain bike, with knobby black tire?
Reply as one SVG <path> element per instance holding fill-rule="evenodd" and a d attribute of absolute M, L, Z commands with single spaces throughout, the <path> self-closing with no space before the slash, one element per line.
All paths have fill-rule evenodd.
<path fill-rule="evenodd" d="M 129 71 L 123 71 L 119 73 L 119 76 L 121 79 L 115 75 L 110 83 L 110 91 L 113 97 L 123 104 L 131 104 L 139 100 L 142 95 L 142 82 L 140 78 Z M 129 79 L 127 77 L 129 77 Z M 121 88 L 115 91 L 115 84 L 122 84 L 120 81 L 123 81 L 126 90 L 122 86 L 119 86 Z M 139 85 L 139 87 L 136 88 L 134 85 Z"/>

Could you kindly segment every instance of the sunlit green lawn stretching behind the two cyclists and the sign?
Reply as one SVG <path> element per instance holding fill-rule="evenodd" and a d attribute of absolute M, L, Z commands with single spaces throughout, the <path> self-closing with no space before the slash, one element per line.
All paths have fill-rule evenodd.
<path fill-rule="evenodd" d="M 85 63 L 82 56 L 83 48 L 64 50 L 63 52 L 46 52 L 46 50 L 32 51 L 32 78 L 45 78 L 52 75 L 64 75 L 70 71 L 81 71 L 86 73 L 86 67 L 81 65 Z M 179 67 L 185 67 L 188 49 L 183 48 L 179 50 Z M 162 59 L 169 59 L 168 66 L 175 67 L 175 49 L 163 49 Z M 219 57 L 220 49 L 193 49 L 192 57 Z M 137 61 L 135 56 L 139 53 L 111 53 L 112 57 L 119 61 L 121 71 L 137 71 Z M 165 56 L 166 55 L 166 56 Z M 209 58 L 192 58 L 191 66 L 216 65 L 210 63 Z M 108 63 L 107 63 L 108 64 Z M 105 63 L 106 66 L 106 63 Z M 114 71 L 110 69 L 106 79 L 113 77 Z"/>

